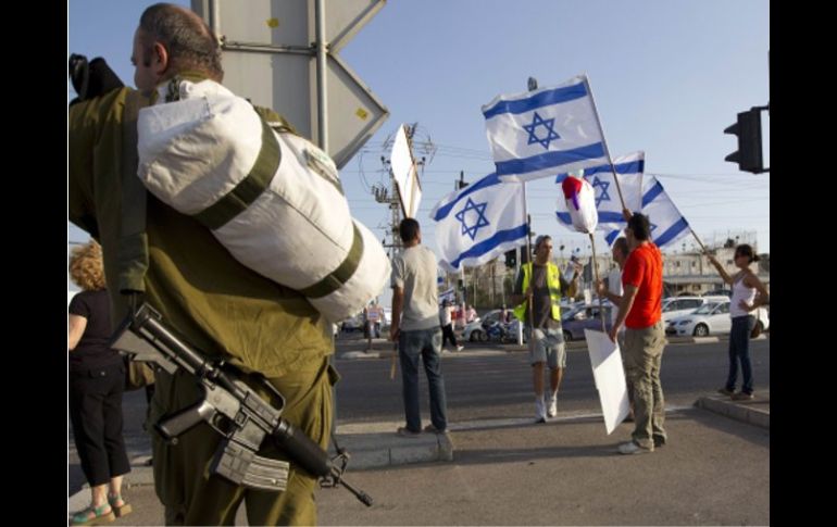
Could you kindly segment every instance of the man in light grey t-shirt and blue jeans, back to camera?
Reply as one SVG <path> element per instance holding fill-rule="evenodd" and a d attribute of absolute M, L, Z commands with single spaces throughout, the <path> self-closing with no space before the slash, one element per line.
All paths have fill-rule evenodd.
<path fill-rule="evenodd" d="M 441 328 L 436 289 L 436 255 L 422 246 L 418 222 L 408 217 L 398 227 L 404 250 L 392 262 L 392 323 L 390 340 L 398 339 L 407 426 L 398 435 L 422 432 L 418 410 L 418 359 L 424 360 L 430 394 L 430 425 L 425 431 L 445 434 L 448 428 L 445 377 L 441 375 Z"/>

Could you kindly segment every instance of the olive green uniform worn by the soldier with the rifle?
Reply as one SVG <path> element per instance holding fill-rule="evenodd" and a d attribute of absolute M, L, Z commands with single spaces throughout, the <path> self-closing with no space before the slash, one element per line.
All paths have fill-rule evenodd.
<path fill-rule="evenodd" d="M 102 244 L 116 318 L 125 314 L 120 289 L 136 283 L 143 266 L 132 263 L 130 255 L 142 252 L 145 236 L 125 239 L 120 225 L 124 202 L 130 200 L 121 187 L 122 121 L 129 91 L 114 90 L 70 109 L 70 219 Z M 207 355 L 267 377 L 287 399 L 283 416 L 325 448 L 336 381 L 327 364 L 330 325 L 301 294 L 239 264 L 205 227 L 150 193 L 146 233 L 146 301 Z M 149 417 L 154 423 L 195 404 L 199 396 L 188 375 L 158 373 Z M 152 438 L 157 494 L 167 524 L 232 525 L 242 499 L 250 525 L 316 523 L 315 480 L 295 463 L 286 491 L 245 490 L 209 477 L 221 436 L 208 425 L 183 434 L 176 446 L 155 432 Z M 260 453 L 287 460 L 278 451 Z"/>

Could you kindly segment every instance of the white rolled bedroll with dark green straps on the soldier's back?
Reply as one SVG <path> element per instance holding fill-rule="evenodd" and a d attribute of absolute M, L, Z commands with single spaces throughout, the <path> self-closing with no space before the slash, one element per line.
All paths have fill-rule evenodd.
<path fill-rule="evenodd" d="M 330 322 L 357 314 L 384 288 L 390 266 L 380 242 L 351 217 L 330 158 L 275 131 L 217 83 L 179 80 L 177 90 L 179 100 L 139 112 L 146 188 Z"/>

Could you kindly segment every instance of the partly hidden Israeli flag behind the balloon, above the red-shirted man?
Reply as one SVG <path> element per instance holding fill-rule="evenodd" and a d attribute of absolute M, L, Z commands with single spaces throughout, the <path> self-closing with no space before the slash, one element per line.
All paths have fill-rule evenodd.
<path fill-rule="evenodd" d="M 613 166 L 619 174 L 620 188 L 625 198 L 625 205 L 632 211 L 642 209 L 642 172 L 645 172 L 645 152 L 638 151 L 622 155 L 613 160 Z M 567 177 L 567 174 L 559 174 L 555 184 L 559 186 L 558 192 L 561 192 L 561 183 Z M 613 180 L 613 172 L 610 164 L 604 163 L 598 166 L 584 170 L 583 176 L 590 184 L 596 192 L 596 211 L 599 213 L 598 229 L 609 233 L 613 229 L 625 228 L 625 217 L 622 215 L 622 201 L 619 199 L 616 183 Z M 573 221 L 570 212 L 566 210 L 566 203 L 563 199 L 558 200 L 558 211 L 555 212 L 558 223 L 566 226 L 571 230 Z"/>

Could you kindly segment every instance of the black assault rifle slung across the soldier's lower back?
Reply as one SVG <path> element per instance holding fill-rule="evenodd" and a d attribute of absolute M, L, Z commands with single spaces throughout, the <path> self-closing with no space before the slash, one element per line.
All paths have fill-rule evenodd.
<path fill-rule="evenodd" d="M 285 398 L 264 377 L 260 380 L 271 390 L 280 407 L 265 402 L 252 388 L 222 371 L 223 363 L 214 363 L 196 352 L 163 324 L 162 316 L 148 304 L 129 314 L 116 330 L 111 347 L 129 353 L 133 360 L 152 362 L 170 374 L 183 369 L 196 377 L 203 388 L 204 398 L 193 406 L 175 415 L 163 417 L 154 425 L 166 440 L 177 442 L 177 436 L 205 422 L 224 439 L 210 466 L 236 485 L 261 490 L 285 490 L 288 463 L 257 455 L 265 438 L 284 450 L 292 463 L 328 486 L 342 485 L 366 506 L 372 498 L 353 488 L 343 478 L 348 456 L 338 451 L 335 460 L 304 432 L 282 417 Z M 340 460 L 340 467 L 334 461 Z"/>

